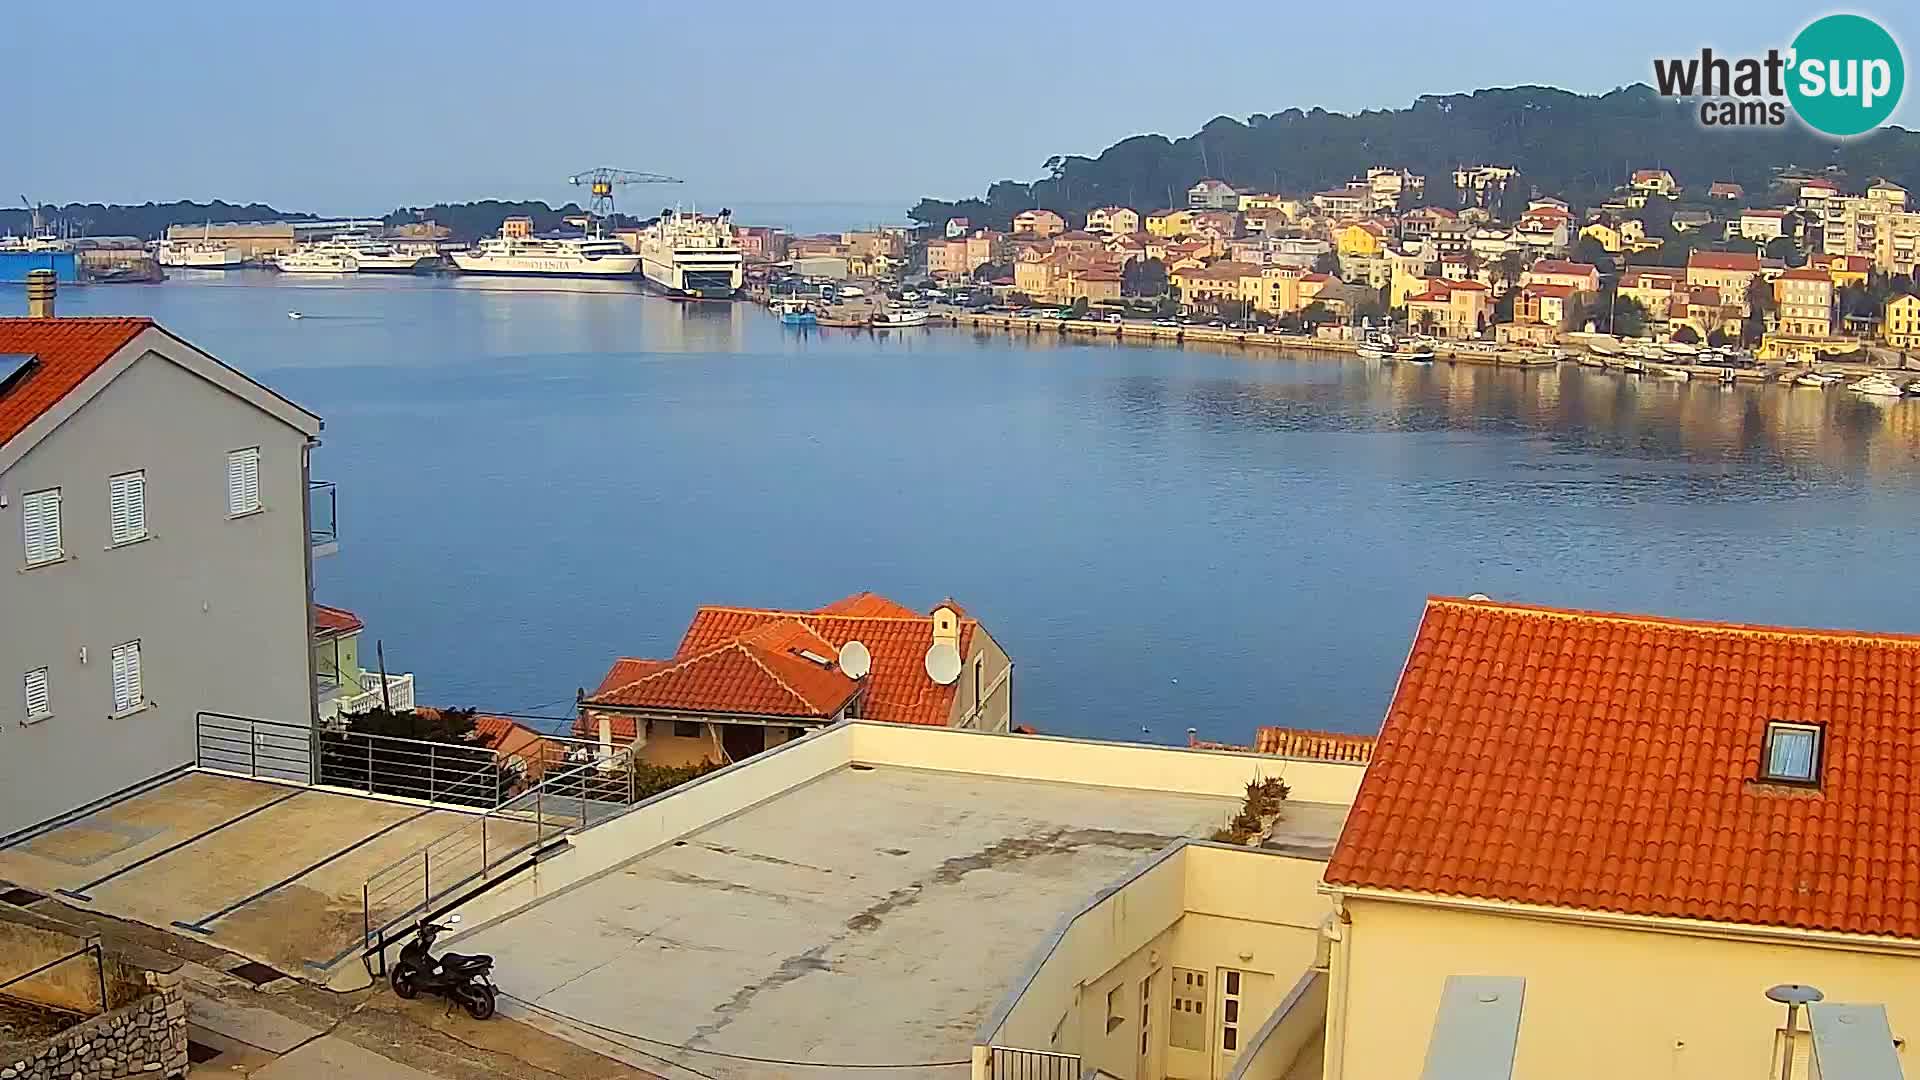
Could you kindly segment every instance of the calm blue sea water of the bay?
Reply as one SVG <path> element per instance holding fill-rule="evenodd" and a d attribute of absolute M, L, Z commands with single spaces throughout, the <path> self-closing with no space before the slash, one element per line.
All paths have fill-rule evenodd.
<path fill-rule="evenodd" d="M 1021 721 L 1156 742 L 1377 728 L 1428 594 L 1920 630 L 1920 404 L 799 332 L 618 284 L 60 302 L 154 315 L 326 417 L 319 598 L 436 703 L 564 715 L 699 603 L 864 588 L 979 615 Z"/>

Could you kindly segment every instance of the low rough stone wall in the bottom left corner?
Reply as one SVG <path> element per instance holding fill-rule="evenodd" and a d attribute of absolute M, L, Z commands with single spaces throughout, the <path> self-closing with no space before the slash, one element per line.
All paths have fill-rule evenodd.
<path fill-rule="evenodd" d="M 179 972 L 144 972 L 148 994 L 0 1061 L 0 1080 L 121 1080 L 186 1074 L 186 990 Z"/>

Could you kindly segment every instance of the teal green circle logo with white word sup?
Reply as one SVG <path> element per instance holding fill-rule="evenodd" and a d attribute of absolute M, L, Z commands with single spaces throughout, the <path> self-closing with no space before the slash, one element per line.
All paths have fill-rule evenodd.
<path fill-rule="evenodd" d="M 1864 15 L 1826 15 L 1793 38 L 1788 98 L 1814 131 L 1872 131 L 1893 115 L 1905 88 L 1901 46 Z"/>

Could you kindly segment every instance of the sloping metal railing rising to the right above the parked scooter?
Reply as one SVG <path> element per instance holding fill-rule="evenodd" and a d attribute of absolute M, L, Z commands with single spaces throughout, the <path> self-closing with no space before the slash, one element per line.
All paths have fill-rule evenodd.
<path fill-rule="evenodd" d="M 516 869 L 547 844 L 626 813 L 634 801 L 632 749 L 541 778 L 374 871 L 361 886 L 367 947 L 436 903 Z"/>

